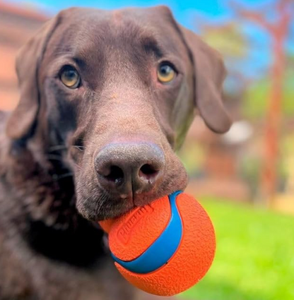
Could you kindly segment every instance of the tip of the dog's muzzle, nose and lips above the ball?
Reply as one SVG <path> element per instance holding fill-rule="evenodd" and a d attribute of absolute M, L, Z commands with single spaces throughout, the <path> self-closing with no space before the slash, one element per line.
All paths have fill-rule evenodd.
<path fill-rule="evenodd" d="M 76 170 L 76 207 L 90 221 L 119 217 L 187 185 L 175 152 L 149 140 L 114 140 L 86 157 Z"/>

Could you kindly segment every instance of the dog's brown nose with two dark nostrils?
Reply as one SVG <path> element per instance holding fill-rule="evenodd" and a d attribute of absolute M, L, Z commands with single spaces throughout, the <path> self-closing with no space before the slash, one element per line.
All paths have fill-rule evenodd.
<path fill-rule="evenodd" d="M 95 157 L 100 185 L 113 193 L 151 191 L 160 182 L 165 168 L 165 155 L 153 143 L 111 143 Z"/>

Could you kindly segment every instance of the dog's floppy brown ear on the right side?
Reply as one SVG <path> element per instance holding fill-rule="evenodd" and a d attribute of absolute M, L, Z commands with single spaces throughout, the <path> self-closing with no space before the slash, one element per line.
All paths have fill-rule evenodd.
<path fill-rule="evenodd" d="M 208 128 L 216 133 L 230 129 L 231 120 L 223 105 L 223 59 L 191 30 L 180 27 L 194 64 L 195 101 Z"/>

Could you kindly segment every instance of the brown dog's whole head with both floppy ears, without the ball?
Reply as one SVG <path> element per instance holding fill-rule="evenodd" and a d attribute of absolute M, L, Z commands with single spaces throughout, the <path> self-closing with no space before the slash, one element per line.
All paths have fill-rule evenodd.
<path fill-rule="evenodd" d="M 218 54 L 165 7 L 62 11 L 20 52 L 12 139 L 66 145 L 76 206 L 102 220 L 187 185 L 174 150 L 195 107 L 213 131 L 230 120 Z"/>

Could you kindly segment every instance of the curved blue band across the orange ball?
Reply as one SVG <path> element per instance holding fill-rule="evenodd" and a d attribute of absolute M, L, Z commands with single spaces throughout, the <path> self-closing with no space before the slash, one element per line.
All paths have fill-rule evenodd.
<path fill-rule="evenodd" d="M 176 191 L 168 196 L 170 200 L 171 216 L 165 230 L 146 251 L 134 260 L 120 260 L 112 253 L 112 258 L 125 269 L 139 274 L 146 274 L 158 270 L 175 254 L 182 239 L 182 219 L 177 208 L 176 198 L 182 191 Z"/>

